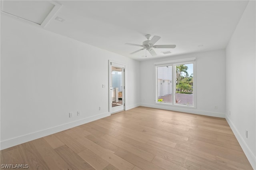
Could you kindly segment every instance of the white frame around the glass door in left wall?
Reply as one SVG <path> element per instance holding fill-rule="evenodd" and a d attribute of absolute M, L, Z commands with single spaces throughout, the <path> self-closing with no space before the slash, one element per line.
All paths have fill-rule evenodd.
<path fill-rule="evenodd" d="M 110 114 L 117 113 L 119 111 L 112 113 L 112 90 L 110 90 L 111 84 L 112 84 L 112 63 L 115 65 L 119 65 L 120 68 L 123 68 L 123 89 L 122 89 L 122 95 L 123 95 L 123 105 L 124 105 L 124 111 L 126 110 L 126 69 L 125 64 L 119 63 L 116 61 L 108 60 L 108 112 Z M 123 111 L 123 110 L 120 110 Z"/>

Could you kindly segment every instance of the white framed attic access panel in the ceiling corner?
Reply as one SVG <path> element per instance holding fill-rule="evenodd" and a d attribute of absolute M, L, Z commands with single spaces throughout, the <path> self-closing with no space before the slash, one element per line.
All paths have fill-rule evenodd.
<path fill-rule="evenodd" d="M 3 0 L 1 11 L 44 27 L 60 7 L 46 0 Z"/>

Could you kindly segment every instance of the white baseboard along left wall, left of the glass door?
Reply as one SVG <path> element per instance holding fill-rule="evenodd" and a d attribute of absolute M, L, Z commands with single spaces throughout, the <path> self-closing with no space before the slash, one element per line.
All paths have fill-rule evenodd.
<path fill-rule="evenodd" d="M 0 142 L 0 150 L 10 148 L 12 146 L 22 144 L 24 142 L 35 140 L 37 138 L 42 138 L 44 136 L 48 136 L 50 134 L 54 134 L 54 133 L 57 133 L 57 132 L 60 132 L 60 131 L 63 131 L 63 130 L 66 130 L 66 129 L 69 129 L 69 128 L 72 128 L 72 127 L 76 127 L 76 126 L 79 126 L 79 125 L 83 125 L 85 123 L 96 121 L 98 119 L 102 119 L 102 118 L 108 117 L 108 116 L 110 116 L 110 113 L 108 113 L 108 112 L 107 113 L 101 113 L 99 115 L 95 115 L 95 116 L 87 117 L 87 118 L 80 119 L 80 120 L 77 120 L 77 121 L 73 121 L 73 122 L 70 122 L 70 123 L 58 125 L 56 127 L 51 127 L 51 128 L 47 128 L 47 129 L 44 129 L 44 130 L 37 131 L 37 132 L 33 132 L 33 133 L 25 134 L 25 135 L 22 135 L 22 136 L 18 136 L 18 137 L 15 137 L 15 138 L 10 138 L 10 139 L 7 139 L 7 140 L 4 140 L 4 141 Z"/>

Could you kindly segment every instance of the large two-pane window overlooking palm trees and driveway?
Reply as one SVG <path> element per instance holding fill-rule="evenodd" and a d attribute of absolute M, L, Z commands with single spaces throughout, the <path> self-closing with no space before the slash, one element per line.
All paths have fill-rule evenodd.
<path fill-rule="evenodd" d="M 156 103 L 195 107 L 195 59 L 155 65 Z"/>

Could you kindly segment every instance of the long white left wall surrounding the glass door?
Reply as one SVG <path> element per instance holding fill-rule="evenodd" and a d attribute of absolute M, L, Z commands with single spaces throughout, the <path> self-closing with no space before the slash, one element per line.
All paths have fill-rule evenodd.
<path fill-rule="evenodd" d="M 138 61 L 2 14 L 1 149 L 110 115 L 108 59 L 126 65 L 126 109 L 138 106 Z"/>

